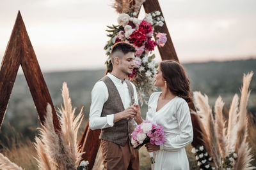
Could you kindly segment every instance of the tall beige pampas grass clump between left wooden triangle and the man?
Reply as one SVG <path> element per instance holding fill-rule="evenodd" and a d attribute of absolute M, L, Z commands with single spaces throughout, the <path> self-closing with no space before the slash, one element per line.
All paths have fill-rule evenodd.
<path fill-rule="evenodd" d="M 67 83 L 63 83 L 61 106 L 61 131 L 55 131 L 52 121 L 51 105 L 47 105 L 45 124 L 40 128 L 39 138 L 36 137 L 39 169 L 76 169 L 81 160 L 78 150 L 77 132 L 83 120 L 82 110 L 74 117 L 76 109 L 72 109 Z M 82 108 L 83 109 L 83 108 Z"/>

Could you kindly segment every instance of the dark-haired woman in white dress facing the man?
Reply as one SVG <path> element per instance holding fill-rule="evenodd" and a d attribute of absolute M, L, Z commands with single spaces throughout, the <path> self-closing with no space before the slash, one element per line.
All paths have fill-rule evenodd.
<path fill-rule="evenodd" d="M 154 85 L 162 92 L 150 96 L 146 120 L 162 125 L 166 134 L 163 145 L 146 144 L 148 152 L 154 152 L 154 170 L 189 169 L 185 146 L 193 140 L 188 107 L 192 99 L 184 68 L 173 60 L 162 61 Z"/>

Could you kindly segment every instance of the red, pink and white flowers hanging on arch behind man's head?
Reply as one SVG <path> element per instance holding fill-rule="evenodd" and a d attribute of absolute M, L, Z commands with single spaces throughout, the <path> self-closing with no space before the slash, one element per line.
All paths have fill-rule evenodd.
<path fill-rule="evenodd" d="M 154 74 L 156 74 L 157 64 L 154 61 L 155 55 L 152 53 L 156 45 L 164 46 L 166 43 L 166 34 L 154 32 L 154 27 L 163 26 L 164 18 L 160 11 L 146 13 L 143 20 L 136 18 L 137 13 L 120 13 L 118 16 L 118 25 L 108 26 L 110 37 L 104 47 L 108 60 L 106 65 L 108 71 L 112 71 L 110 52 L 112 46 L 120 41 L 131 43 L 136 48 L 135 67 L 128 78 L 134 83 L 138 91 L 138 98 L 141 104 L 146 102 L 145 97 L 150 95 L 154 87 Z M 155 36 L 156 41 L 152 39 Z M 146 102 L 147 103 L 147 102 Z"/>

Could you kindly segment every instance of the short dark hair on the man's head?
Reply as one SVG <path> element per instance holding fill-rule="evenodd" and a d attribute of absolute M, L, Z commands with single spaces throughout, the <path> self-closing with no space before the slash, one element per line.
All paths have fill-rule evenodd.
<path fill-rule="evenodd" d="M 116 52 L 121 52 L 123 55 L 122 56 L 115 56 Z M 136 49 L 134 48 L 133 45 L 129 43 L 125 43 L 124 41 L 118 42 L 115 45 L 113 45 L 112 50 L 111 50 L 111 60 L 113 62 L 114 57 L 123 57 L 125 54 L 129 52 L 136 52 Z"/>

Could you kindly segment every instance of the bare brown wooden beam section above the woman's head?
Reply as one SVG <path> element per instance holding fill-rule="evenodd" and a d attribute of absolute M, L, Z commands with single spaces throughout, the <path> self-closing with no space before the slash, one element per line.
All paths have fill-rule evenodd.
<path fill-rule="evenodd" d="M 143 3 L 143 7 L 144 7 L 146 13 L 150 13 L 152 11 L 160 11 L 161 15 L 164 17 L 163 12 L 160 8 L 160 4 L 157 0 L 147 0 L 147 1 L 145 1 L 145 3 Z M 172 43 L 172 38 L 170 36 L 170 33 L 169 33 L 167 25 L 166 25 L 166 22 L 164 22 L 163 27 L 156 26 L 155 31 L 161 32 L 161 33 L 166 33 L 167 41 L 166 41 L 165 45 L 162 47 L 157 46 L 159 53 L 161 55 L 161 59 L 162 60 L 172 59 L 172 60 L 179 61 L 177 53 L 175 52 L 175 48 Z M 155 37 L 155 39 L 156 39 L 156 37 Z"/>

